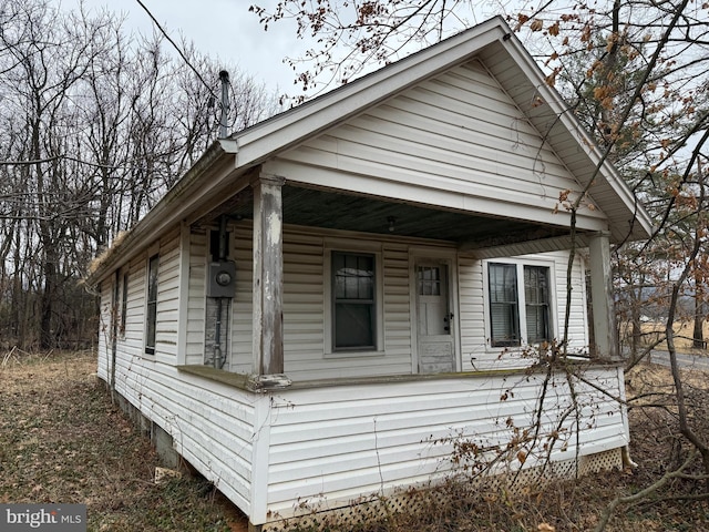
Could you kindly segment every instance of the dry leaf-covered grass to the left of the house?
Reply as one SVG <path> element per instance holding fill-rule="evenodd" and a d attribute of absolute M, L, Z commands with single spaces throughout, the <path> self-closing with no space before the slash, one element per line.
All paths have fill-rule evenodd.
<path fill-rule="evenodd" d="M 92 376 L 93 354 L 0 362 L 0 502 L 85 503 L 90 531 L 243 530 L 207 482 L 153 482 L 157 457 Z"/>

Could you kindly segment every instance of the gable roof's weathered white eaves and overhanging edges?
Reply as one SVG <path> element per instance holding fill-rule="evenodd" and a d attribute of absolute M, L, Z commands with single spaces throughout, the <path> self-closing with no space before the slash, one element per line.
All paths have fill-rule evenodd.
<path fill-rule="evenodd" d="M 522 43 L 501 18 L 409 55 L 302 105 L 212 144 L 201 160 L 157 205 L 105 256 L 91 274 L 99 280 L 140 253 L 169 226 L 223 200 L 229 183 L 286 150 L 357 116 L 401 92 L 481 59 L 530 123 L 554 150 L 579 184 L 593 180 L 594 201 L 608 216 L 612 241 L 646 238 L 651 222 L 637 198 L 584 131 Z M 119 258 L 121 257 L 121 258 Z"/>

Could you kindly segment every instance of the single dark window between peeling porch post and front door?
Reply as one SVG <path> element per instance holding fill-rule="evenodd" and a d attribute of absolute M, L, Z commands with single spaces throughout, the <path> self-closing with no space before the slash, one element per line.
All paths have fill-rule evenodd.
<path fill-rule="evenodd" d="M 374 255 L 332 252 L 332 349 L 377 347 Z"/>

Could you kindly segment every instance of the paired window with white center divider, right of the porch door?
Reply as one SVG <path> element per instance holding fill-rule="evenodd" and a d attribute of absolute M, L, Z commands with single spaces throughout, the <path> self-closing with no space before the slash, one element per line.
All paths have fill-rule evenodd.
<path fill-rule="evenodd" d="M 523 277 L 523 286 L 517 283 Z M 493 347 L 552 339 L 549 268 L 506 263 L 487 265 L 490 340 Z M 522 301 L 522 304 L 520 303 Z M 524 329 L 521 331 L 521 324 Z M 524 332 L 524 337 L 521 332 Z"/>

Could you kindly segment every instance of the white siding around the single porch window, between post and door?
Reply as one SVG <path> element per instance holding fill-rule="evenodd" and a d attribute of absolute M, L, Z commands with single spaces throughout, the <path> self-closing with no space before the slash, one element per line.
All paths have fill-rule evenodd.
<path fill-rule="evenodd" d="M 297 234 L 286 231 L 284 235 L 284 358 L 285 371 L 294 380 L 314 380 L 325 378 L 356 378 L 369 375 L 400 375 L 411 372 L 411 330 L 409 328 L 408 262 L 405 254 L 378 246 L 377 258 L 381 265 L 383 324 L 382 346 L 376 354 L 362 356 L 332 352 L 327 345 L 326 327 L 331 311 L 331 303 L 325 300 L 325 263 L 330 258 L 330 249 L 357 249 L 361 253 L 371 246 L 371 236 L 331 239 L 315 235 Z M 364 248 L 362 247 L 364 246 Z M 405 247 L 403 248 L 405 250 Z M 329 290 L 328 290 L 329 291 Z M 402 314 L 404 313 L 405 314 Z"/>

